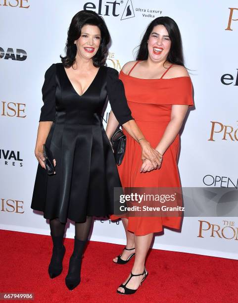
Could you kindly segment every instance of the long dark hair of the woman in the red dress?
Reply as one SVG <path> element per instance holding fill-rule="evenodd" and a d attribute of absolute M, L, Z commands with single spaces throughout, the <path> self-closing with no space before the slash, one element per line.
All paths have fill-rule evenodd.
<path fill-rule="evenodd" d="M 171 47 L 167 56 L 167 60 L 173 64 L 184 66 L 184 54 L 181 34 L 177 23 L 170 17 L 158 17 L 154 19 L 145 30 L 140 49 L 137 53 L 137 60 L 146 60 L 148 58 L 148 46 L 147 41 L 149 36 L 156 25 L 164 25 L 169 33 L 171 40 Z"/>

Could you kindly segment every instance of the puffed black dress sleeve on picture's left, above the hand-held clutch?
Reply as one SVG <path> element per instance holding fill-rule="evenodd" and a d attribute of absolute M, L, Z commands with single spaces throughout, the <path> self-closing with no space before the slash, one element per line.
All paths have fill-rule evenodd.
<path fill-rule="evenodd" d="M 42 99 L 44 105 L 41 108 L 40 121 L 55 120 L 55 64 L 52 64 L 45 74 L 45 82 L 42 87 Z"/>

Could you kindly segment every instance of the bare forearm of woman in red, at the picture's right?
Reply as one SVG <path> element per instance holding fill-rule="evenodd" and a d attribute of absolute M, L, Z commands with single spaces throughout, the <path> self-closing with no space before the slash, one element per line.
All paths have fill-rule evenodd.
<path fill-rule="evenodd" d="M 173 143 L 176 136 L 178 135 L 182 124 L 183 124 L 183 119 L 177 119 L 177 118 L 171 119 L 155 150 L 160 152 L 161 154 L 164 154 L 168 149 L 168 147 Z"/>

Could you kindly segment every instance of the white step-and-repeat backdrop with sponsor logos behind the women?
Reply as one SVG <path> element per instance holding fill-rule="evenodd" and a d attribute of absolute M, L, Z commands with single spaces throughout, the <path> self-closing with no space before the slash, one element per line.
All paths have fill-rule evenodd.
<path fill-rule="evenodd" d="M 112 37 L 107 65 L 135 59 L 151 20 L 178 24 L 195 107 L 182 130 L 183 187 L 238 188 L 238 2 L 157 0 L 0 0 L 0 228 L 49 235 L 30 208 L 45 71 L 60 62 L 72 17 L 100 14 Z M 106 126 L 110 105 L 103 124 Z M 229 207 L 229 205 L 228 205 Z M 66 236 L 74 237 L 72 222 Z M 91 240 L 125 243 L 121 221 L 95 220 Z M 153 248 L 238 259 L 238 214 L 185 217 L 181 232 L 165 229 Z"/>

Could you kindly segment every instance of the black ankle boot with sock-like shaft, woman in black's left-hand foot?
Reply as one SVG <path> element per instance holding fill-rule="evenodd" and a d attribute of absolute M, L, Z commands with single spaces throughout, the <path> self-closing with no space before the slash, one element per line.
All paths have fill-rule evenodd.
<path fill-rule="evenodd" d="M 53 250 L 51 260 L 48 266 L 48 273 L 51 279 L 61 274 L 63 270 L 62 262 L 65 253 L 65 247 L 62 244 L 63 237 L 52 237 Z"/>

